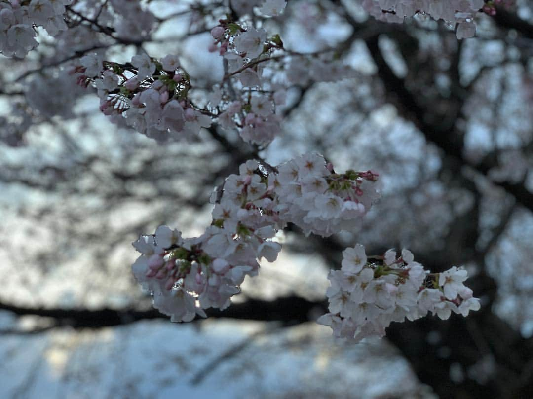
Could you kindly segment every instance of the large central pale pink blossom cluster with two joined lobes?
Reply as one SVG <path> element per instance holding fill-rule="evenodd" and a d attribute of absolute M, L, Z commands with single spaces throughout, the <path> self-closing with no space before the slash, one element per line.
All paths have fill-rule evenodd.
<path fill-rule="evenodd" d="M 286 168 L 292 162 L 295 165 L 292 170 L 298 172 L 300 166 L 302 169 L 296 173 L 296 180 L 289 181 Z M 292 210 L 287 209 L 290 199 L 283 187 L 296 190 L 299 186 L 306 191 L 311 190 L 314 181 L 324 180 L 319 184 L 324 188 L 322 193 L 309 192 L 333 198 L 337 194 L 325 193 L 330 185 L 333 193 L 353 191 L 358 196 L 359 177 L 350 181 L 356 174 L 353 171 L 334 174 L 318 154 L 297 158 L 280 167 L 279 173 L 276 168 L 247 161 L 239 167 L 238 175 L 230 175 L 224 182 L 213 209 L 213 222 L 203 235 L 183 239 L 179 231 L 159 226 L 155 235 L 143 235 L 133 243 L 142 254 L 133 265 L 133 273 L 143 288 L 154 293 L 154 306 L 171 315 L 173 321 L 189 321 L 197 314 L 205 315 L 204 309 L 209 307 L 224 309 L 239 292 L 244 277 L 257 274 L 257 259 L 276 260 L 281 245 L 272 238 L 287 221 L 302 222 L 298 225 L 306 234 L 326 235 L 349 227 L 346 221 L 353 223 L 370 206 L 370 203 L 365 207 L 361 202 L 346 200 L 353 202 L 355 211 L 346 208 L 341 214 L 333 215 L 328 210 L 325 216 L 319 212 L 321 200 L 317 199 L 312 201 L 316 204 L 314 213 L 309 211 L 303 222 L 291 216 Z M 369 181 L 376 178 L 371 172 L 357 175 L 366 176 Z M 346 188 L 341 190 L 339 184 Z M 362 193 L 361 197 L 364 197 Z M 339 221 L 344 217 L 344 223 L 330 223 L 327 217 L 337 217 Z M 321 229 L 320 225 L 329 227 Z"/>

